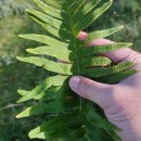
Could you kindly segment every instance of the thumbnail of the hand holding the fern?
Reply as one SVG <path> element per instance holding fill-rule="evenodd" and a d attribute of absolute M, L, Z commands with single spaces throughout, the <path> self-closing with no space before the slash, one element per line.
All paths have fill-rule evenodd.
<path fill-rule="evenodd" d="M 72 77 L 70 80 L 69 80 L 69 87 L 70 87 L 72 89 L 75 89 L 75 90 L 76 90 L 76 89 L 78 88 L 78 86 L 79 86 L 79 82 L 80 82 L 80 78 L 74 76 L 74 77 Z"/>

